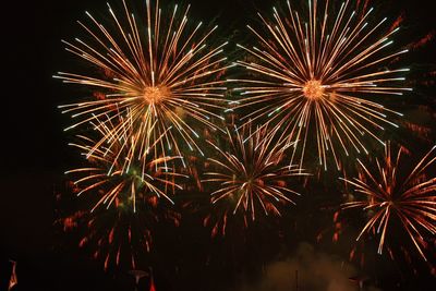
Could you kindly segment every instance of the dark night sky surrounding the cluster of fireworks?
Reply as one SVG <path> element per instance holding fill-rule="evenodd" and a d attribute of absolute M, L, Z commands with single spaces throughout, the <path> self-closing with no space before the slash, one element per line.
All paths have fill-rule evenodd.
<path fill-rule="evenodd" d="M 9 278 L 4 272 L 8 259 L 13 259 L 17 262 L 17 290 L 133 290 L 132 278 L 125 270 L 105 272 L 101 262 L 92 259 L 89 253 L 77 247 L 72 235 L 63 233 L 62 228 L 55 223 L 62 213 L 57 195 L 69 195 L 63 172 L 76 165 L 78 157 L 66 145 L 71 136 L 63 132 L 70 119 L 57 109 L 57 106 L 74 100 L 76 87 L 63 85 L 51 76 L 58 71 L 69 71 L 69 65 L 76 61 L 64 51 L 61 39 L 73 39 L 84 34 L 76 21 L 85 19 L 85 10 L 99 19 L 106 17 L 106 1 L 10 2 L 11 7 L 3 9 L 2 25 L 5 49 L 2 59 L 7 63 L 3 74 L 7 80 L 3 77 L 2 82 L 1 113 L 0 289 Z M 227 48 L 232 53 L 230 50 L 234 43 L 244 41 L 247 35 L 245 24 L 258 24 L 255 12 L 269 13 L 269 9 L 278 2 L 281 1 L 192 0 L 190 15 L 196 21 L 219 24 L 217 35 L 222 38 L 235 36 L 238 40 L 230 39 Z M 397 16 L 403 15 L 405 31 L 397 36 L 401 45 L 419 41 L 433 33 L 434 38 L 412 51 L 405 60 L 411 64 L 411 82 L 415 82 L 412 86 L 417 88 L 415 95 L 405 96 L 393 107 L 404 112 L 411 122 L 429 129 L 427 140 L 433 138 L 434 144 L 435 75 L 429 77 L 427 74 L 436 71 L 433 1 L 376 2 L 380 17 L 388 15 L 393 22 Z M 168 1 L 160 4 L 165 7 Z M 231 54 L 230 59 L 238 58 L 238 53 Z M 420 106 L 427 108 L 426 113 L 420 113 Z M 404 129 L 392 136 L 400 142 L 411 142 L 408 145 L 416 151 L 416 156 L 432 145 L 415 133 L 409 137 Z M 340 196 L 336 197 L 337 201 L 311 196 L 311 189 L 315 192 L 319 189 L 330 191 L 322 181 L 314 182 L 299 199 L 298 206 L 281 221 L 265 221 L 245 234 L 229 233 L 227 238 L 211 240 L 208 230 L 202 227 L 198 214 L 184 219 L 172 233 L 168 233 L 171 228 L 165 227 L 157 234 L 157 250 L 152 258 L 157 290 L 295 290 L 294 284 L 284 289 L 279 283 L 262 282 L 280 280 L 281 275 L 276 274 L 275 277 L 272 272 L 275 268 L 284 268 L 286 264 L 289 264 L 289 276 L 294 276 L 296 267 L 293 267 L 292 258 L 295 256 L 307 256 L 313 264 L 319 262 L 316 264 L 331 270 L 326 276 L 341 277 L 343 274 L 337 275 L 335 270 L 341 272 L 342 262 L 351 264 L 348 263 L 346 248 L 350 248 L 353 239 L 350 237 L 338 244 L 331 243 L 328 229 L 332 226 L 335 202 L 340 201 Z M 284 223 L 287 218 L 290 220 Z M 320 222 L 323 220 L 324 223 Z M 313 229 L 303 231 L 304 223 Z M 316 235 L 323 229 L 327 229 L 326 233 L 330 234 L 326 235 L 330 237 L 317 243 Z M 431 259 L 435 260 L 434 257 Z M 371 278 L 368 284 L 374 289 L 365 290 L 431 290 L 428 284 L 435 283 L 435 277 L 429 275 L 425 264 L 416 263 L 417 271 L 414 274 L 412 268 L 383 259 L 376 254 L 368 255 L 365 267 L 354 264 L 352 268 L 356 270 L 354 274 Z M 312 267 L 305 270 L 315 271 Z M 148 283 L 148 279 L 144 279 L 143 290 L 147 290 Z M 302 284 L 299 290 L 310 289 L 304 289 Z"/>

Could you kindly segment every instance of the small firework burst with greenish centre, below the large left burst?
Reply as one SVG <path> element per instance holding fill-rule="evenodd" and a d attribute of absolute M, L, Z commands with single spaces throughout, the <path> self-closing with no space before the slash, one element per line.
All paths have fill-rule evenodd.
<path fill-rule="evenodd" d="M 94 123 L 96 122 L 96 123 Z M 114 135 L 111 119 L 93 121 L 95 129 L 98 129 L 101 136 L 111 138 L 110 147 L 98 147 L 89 154 L 95 145 L 95 141 L 78 135 L 80 143 L 71 143 L 83 150 L 89 162 L 88 167 L 78 168 L 66 171 L 68 174 L 81 175 L 74 181 L 74 184 L 81 187 L 77 195 L 85 192 L 97 192 L 100 197 L 94 205 L 94 211 L 100 205 L 107 205 L 109 208 L 112 203 L 123 201 L 125 204 L 131 204 L 133 211 L 136 213 L 137 197 L 145 198 L 149 195 L 172 199 L 168 195 L 168 191 L 174 192 L 181 186 L 175 182 L 179 177 L 184 177 L 177 173 L 174 169 L 169 168 L 167 162 L 178 159 L 179 157 L 157 157 L 145 153 L 141 160 L 134 158 L 135 138 L 131 137 L 131 133 L 125 131 L 122 134 Z M 155 144 L 159 143 L 160 136 Z"/>

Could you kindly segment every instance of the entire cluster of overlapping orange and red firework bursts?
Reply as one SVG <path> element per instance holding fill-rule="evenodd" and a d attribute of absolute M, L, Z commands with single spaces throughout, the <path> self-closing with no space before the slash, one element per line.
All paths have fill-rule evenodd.
<path fill-rule="evenodd" d="M 136 13 L 129 1 L 119 2 L 122 13 L 107 4 L 105 24 L 86 12 L 89 24 L 78 22 L 85 38 L 62 40 L 78 65 L 55 75 L 86 92 L 59 106 L 73 119 L 65 131 L 74 133 L 70 145 L 83 157 L 65 172 L 70 192 L 85 205 L 59 221 L 64 230 L 84 229 L 78 245 L 92 248 L 106 270 L 156 267 L 161 278 L 179 279 L 195 274 L 182 266 L 198 263 L 196 269 L 214 272 L 209 246 L 222 242 L 228 248 L 221 254 L 234 268 L 221 257 L 215 267 L 239 270 L 245 260 L 237 258 L 256 257 L 240 246 L 251 243 L 252 253 L 272 253 L 256 235 L 269 245 L 277 235 L 283 252 L 296 240 L 320 245 L 330 232 L 329 243 L 339 245 L 354 227 L 342 215 L 349 208 L 365 217 L 350 260 L 370 250 L 364 238 L 376 238 L 378 253 L 388 248 L 395 259 L 386 246 L 398 231 L 416 256 L 432 262 L 436 146 L 410 169 L 408 145 L 396 143 L 393 153 L 383 134 L 401 125 L 420 142 L 433 143 L 431 128 L 402 121 L 402 113 L 383 105 L 412 92 L 402 82 L 412 75 L 409 68 L 397 65 L 408 49 L 391 40 L 401 16 L 389 27 L 373 15 L 370 0 L 356 1 L 355 10 L 351 0 L 307 0 L 300 7 L 289 0 L 286 11 L 274 8 L 272 20 L 258 14 L 264 29 L 247 25 L 256 45 L 237 45 L 242 50 L 232 63 L 228 58 L 237 58 L 223 48 L 237 28 L 229 41 L 225 36 L 216 45 L 217 26 L 193 26 L 190 5 L 161 9 L 158 0 L 146 0 Z M 203 26 L 208 28 L 202 33 Z M 74 73 L 80 68 L 82 73 Z M 429 106 L 426 110 L 433 114 Z M 383 150 L 374 146 L 378 143 L 385 148 L 382 159 L 371 157 Z M 290 207 L 300 193 L 302 207 Z M 334 228 L 325 228 L 328 222 L 320 220 L 331 215 Z M 211 235 L 204 235 L 204 243 L 199 238 L 209 233 L 207 227 Z M 174 257 L 190 243 L 198 250 Z M 264 274 L 267 256 L 259 264 Z"/>

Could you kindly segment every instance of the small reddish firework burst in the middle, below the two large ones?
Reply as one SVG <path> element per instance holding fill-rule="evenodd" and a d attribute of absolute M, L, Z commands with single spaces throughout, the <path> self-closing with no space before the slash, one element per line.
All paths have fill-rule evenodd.
<path fill-rule="evenodd" d="M 206 172 L 208 179 L 202 182 L 219 183 L 218 190 L 211 195 L 211 203 L 219 201 L 230 203 L 233 215 L 241 209 L 254 220 L 256 205 L 261 206 L 265 215 L 280 215 L 275 204 L 292 203 L 290 195 L 300 195 L 287 186 L 292 177 L 307 175 L 302 169 L 292 166 L 282 166 L 283 153 L 291 146 L 275 140 L 275 132 L 256 130 L 245 136 L 237 129 L 227 130 L 230 142 L 229 150 L 222 149 L 208 142 L 216 150 L 217 158 L 208 158 L 213 171 Z M 251 131 L 251 130 L 247 130 Z M 258 207 L 257 206 L 257 207 Z"/>

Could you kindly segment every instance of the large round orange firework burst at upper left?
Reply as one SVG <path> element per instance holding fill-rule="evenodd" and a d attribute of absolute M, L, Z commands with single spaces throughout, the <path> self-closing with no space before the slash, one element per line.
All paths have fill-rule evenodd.
<path fill-rule="evenodd" d="M 202 23 L 190 31 L 190 7 L 180 13 L 175 5 L 172 14 L 167 15 L 159 9 L 158 2 L 153 8 L 147 0 L 143 27 L 141 20 L 130 13 L 124 0 L 123 5 L 124 19 L 117 16 L 108 4 L 116 27 L 112 31 L 86 12 L 96 29 L 78 23 L 90 36 L 89 43 L 78 38 L 75 43 L 63 40 L 68 51 L 97 68 L 100 73 L 59 72 L 55 77 L 105 94 L 100 100 L 60 106 L 63 112 L 78 120 L 65 130 L 109 116 L 98 128 L 111 121 L 119 123 L 96 141 L 88 155 L 101 150 L 100 147 L 112 148 L 112 136 L 126 131 L 131 135 L 123 147 L 137 147 L 131 150 L 136 151 L 138 159 L 152 147 L 156 157 L 171 153 L 182 156 L 182 143 L 191 150 L 197 149 L 203 154 L 195 142 L 199 136 L 191 122 L 217 130 L 211 119 L 222 119 L 216 111 L 222 111 L 217 101 L 222 99 L 226 87 L 216 76 L 226 69 L 222 63 L 227 58 L 221 52 L 227 43 L 207 47 L 206 40 L 217 26 L 203 36 L 198 33 Z M 152 146 L 156 141 L 159 141 L 158 146 Z"/>

